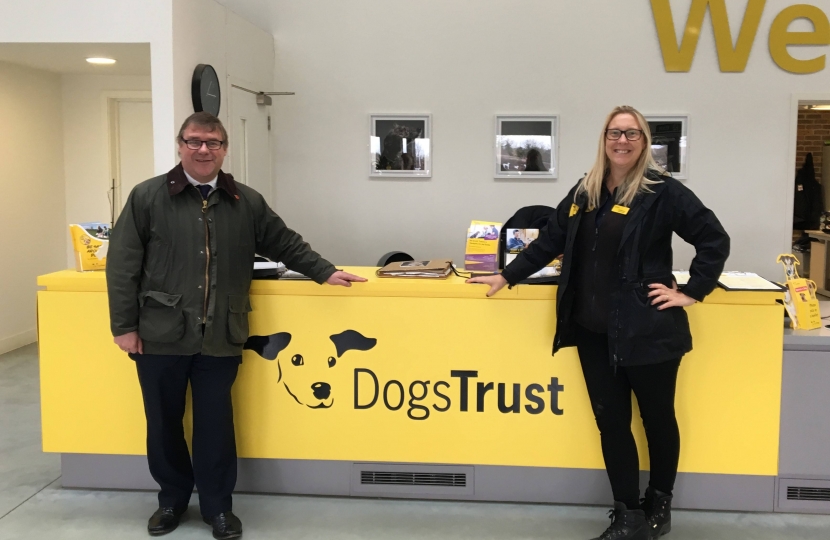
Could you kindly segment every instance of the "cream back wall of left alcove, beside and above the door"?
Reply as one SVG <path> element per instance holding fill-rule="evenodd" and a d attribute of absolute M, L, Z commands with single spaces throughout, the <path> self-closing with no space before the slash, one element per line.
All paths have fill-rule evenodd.
<path fill-rule="evenodd" d="M 63 75 L 61 86 L 67 223 L 109 222 L 106 96 L 117 91 L 149 91 L 150 77 Z M 67 267 L 74 265 L 68 240 L 66 260 Z"/>

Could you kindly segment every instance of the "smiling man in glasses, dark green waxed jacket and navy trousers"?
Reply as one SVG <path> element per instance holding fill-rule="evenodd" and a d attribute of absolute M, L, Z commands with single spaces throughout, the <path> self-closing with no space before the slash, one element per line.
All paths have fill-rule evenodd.
<path fill-rule="evenodd" d="M 177 137 L 181 163 L 130 194 L 107 256 L 115 343 L 135 360 L 147 417 L 147 461 L 159 508 L 147 525 L 169 533 L 193 486 L 217 539 L 238 538 L 231 387 L 248 338 L 254 253 L 317 283 L 350 286 L 286 227 L 263 197 L 222 172 L 228 136 L 218 118 L 196 113 Z M 182 417 L 193 400 L 192 463 Z"/>

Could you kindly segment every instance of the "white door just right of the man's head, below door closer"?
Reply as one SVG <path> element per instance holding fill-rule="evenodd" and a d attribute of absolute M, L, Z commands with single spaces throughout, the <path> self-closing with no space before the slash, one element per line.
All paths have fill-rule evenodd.
<path fill-rule="evenodd" d="M 254 94 L 234 87 L 230 102 L 230 172 L 234 180 L 257 190 L 273 208 L 269 109 L 257 105 Z"/>

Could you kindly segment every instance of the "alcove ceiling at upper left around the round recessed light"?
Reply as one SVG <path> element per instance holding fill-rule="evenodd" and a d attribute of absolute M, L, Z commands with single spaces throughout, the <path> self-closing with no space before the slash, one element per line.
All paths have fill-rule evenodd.
<path fill-rule="evenodd" d="M 117 62 L 90 64 L 87 58 L 103 56 Z M 150 75 L 149 43 L 0 43 L 0 62 L 53 73 L 97 75 Z"/>

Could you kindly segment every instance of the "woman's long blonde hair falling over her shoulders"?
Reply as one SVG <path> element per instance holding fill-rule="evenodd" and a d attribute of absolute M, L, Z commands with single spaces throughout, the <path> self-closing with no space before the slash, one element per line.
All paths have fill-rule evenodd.
<path fill-rule="evenodd" d="M 660 183 L 660 181 L 646 178 L 648 170 L 654 170 L 659 174 L 665 172 L 657 165 L 651 155 L 651 130 L 648 127 L 648 122 L 645 117 L 634 107 L 629 107 L 628 105 L 615 107 L 605 119 L 605 125 L 599 134 L 597 160 L 594 162 L 591 170 L 588 171 L 588 174 L 585 175 L 585 178 L 582 179 L 582 182 L 579 183 L 579 187 L 576 190 L 577 194 L 583 191 L 588 194 L 588 208 L 590 209 L 599 207 L 602 183 L 608 174 L 608 156 L 605 153 L 605 131 L 608 129 L 609 124 L 611 124 L 611 120 L 621 114 L 630 114 L 637 120 L 637 123 L 640 124 L 640 129 L 643 130 L 643 138 L 645 140 L 643 151 L 639 159 L 637 159 L 637 163 L 625 175 L 622 184 L 620 184 L 620 188 L 617 190 L 617 202 L 623 206 L 630 206 L 638 193 L 641 191 L 650 192 L 649 185 Z"/>

